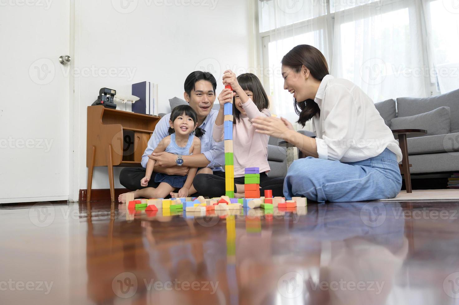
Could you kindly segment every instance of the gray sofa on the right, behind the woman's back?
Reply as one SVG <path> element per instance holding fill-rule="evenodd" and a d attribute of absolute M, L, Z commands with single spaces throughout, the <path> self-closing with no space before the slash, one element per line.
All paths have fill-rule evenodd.
<path fill-rule="evenodd" d="M 429 98 L 405 97 L 397 98 L 396 100 L 385 100 L 376 103 L 375 107 L 391 129 L 396 129 L 393 128 L 395 121 L 392 120 L 394 118 L 405 118 L 408 123 L 405 127 L 407 129 L 435 129 L 437 133 L 440 130 L 446 130 L 446 133 L 442 134 L 407 139 L 409 163 L 413 165 L 410 169 L 411 173 L 459 171 L 459 89 Z M 449 107 L 449 128 L 448 121 L 444 116 L 444 108 L 443 115 L 416 116 L 427 112 L 440 112 L 440 107 Z M 411 121 L 416 123 L 410 125 L 409 122 L 413 119 L 413 116 L 416 116 L 414 119 L 417 119 L 417 121 Z M 443 128 L 436 125 L 442 125 Z M 397 128 L 400 128 L 400 126 L 400 124 L 397 124 Z M 429 128 L 423 128 L 423 126 L 429 126 Z"/>

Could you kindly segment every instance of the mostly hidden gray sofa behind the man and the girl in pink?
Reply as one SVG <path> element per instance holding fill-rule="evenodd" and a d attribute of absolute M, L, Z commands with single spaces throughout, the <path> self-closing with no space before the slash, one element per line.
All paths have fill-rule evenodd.
<path fill-rule="evenodd" d="M 178 105 L 188 104 L 185 100 L 174 97 L 169 100 L 171 109 Z M 220 109 L 220 105 L 214 103 L 212 109 Z M 159 116 L 164 116 L 165 113 L 160 113 Z M 268 142 L 268 163 L 271 171 L 268 173 L 269 177 L 285 177 L 287 174 L 287 153 L 285 147 L 277 146 L 278 139 L 270 137 Z"/>

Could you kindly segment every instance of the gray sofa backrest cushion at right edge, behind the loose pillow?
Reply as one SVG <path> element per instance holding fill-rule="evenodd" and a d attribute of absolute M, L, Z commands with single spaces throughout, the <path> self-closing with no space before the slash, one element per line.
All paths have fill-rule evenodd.
<path fill-rule="evenodd" d="M 414 116 L 446 106 L 450 108 L 451 119 L 449 130 L 459 129 L 459 89 L 428 98 L 397 98 L 398 117 Z"/>

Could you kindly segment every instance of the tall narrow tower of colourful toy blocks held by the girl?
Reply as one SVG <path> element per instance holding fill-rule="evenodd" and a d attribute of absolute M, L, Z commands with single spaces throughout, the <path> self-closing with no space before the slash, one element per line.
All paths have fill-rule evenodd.
<path fill-rule="evenodd" d="M 231 85 L 225 88 L 233 90 Z M 234 198 L 233 102 L 224 105 L 225 195 Z"/>

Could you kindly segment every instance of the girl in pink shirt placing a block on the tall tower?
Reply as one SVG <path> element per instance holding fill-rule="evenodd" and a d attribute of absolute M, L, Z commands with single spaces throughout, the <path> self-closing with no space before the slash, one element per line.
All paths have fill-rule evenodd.
<path fill-rule="evenodd" d="M 268 163 L 269 136 L 255 132 L 255 127 L 253 127 L 251 122 L 255 117 L 271 116 L 268 110 L 269 100 L 260 80 L 252 73 L 241 74 L 236 78 L 232 71 L 227 70 L 223 76 L 223 83 L 224 85 L 230 84 L 233 91 L 224 89 L 218 96 L 220 110 L 215 119 L 213 139 L 216 142 L 223 141 L 224 104 L 231 102 L 234 97 L 233 151 L 235 197 L 244 197 L 244 170 L 246 167 L 260 168 L 261 187 L 269 180 L 272 180 L 266 175 L 270 170 Z"/>

